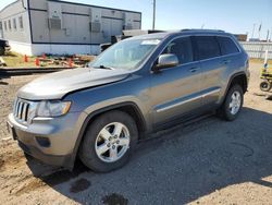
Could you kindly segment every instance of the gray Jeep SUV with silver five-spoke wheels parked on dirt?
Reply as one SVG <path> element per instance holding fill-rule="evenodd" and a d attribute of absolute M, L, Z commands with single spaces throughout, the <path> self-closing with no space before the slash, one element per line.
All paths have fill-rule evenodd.
<path fill-rule="evenodd" d="M 217 111 L 237 118 L 248 56 L 221 31 L 137 36 L 89 68 L 58 72 L 22 87 L 8 124 L 22 149 L 72 169 L 76 157 L 98 172 L 127 162 L 148 133 Z"/>

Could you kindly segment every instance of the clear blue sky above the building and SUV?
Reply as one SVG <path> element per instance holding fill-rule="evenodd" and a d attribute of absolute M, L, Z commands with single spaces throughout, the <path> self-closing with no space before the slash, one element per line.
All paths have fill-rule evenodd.
<path fill-rule="evenodd" d="M 14 0 L 1 0 L 0 9 Z M 67 0 L 143 12 L 143 28 L 152 26 L 152 0 Z M 158 29 L 205 28 L 249 33 L 262 38 L 272 29 L 272 0 L 157 0 Z"/>

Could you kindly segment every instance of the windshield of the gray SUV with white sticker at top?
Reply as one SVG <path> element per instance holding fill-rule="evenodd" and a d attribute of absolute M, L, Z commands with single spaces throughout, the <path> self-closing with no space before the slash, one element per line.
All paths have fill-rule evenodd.
<path fill-rule="evenodd" d="M 102 52 L 90 67 L 135 70 L 160 41 L 160 39 L 120 41 Z"/>

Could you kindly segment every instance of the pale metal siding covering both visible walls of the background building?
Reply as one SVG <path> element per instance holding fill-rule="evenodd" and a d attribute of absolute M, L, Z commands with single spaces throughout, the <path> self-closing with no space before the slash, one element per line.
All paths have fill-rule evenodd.
<path fill-rule="evenodd" d="M 25 7 L 27 7 L 27 0 Z M 55 2 L 57 3 L 57 2 Z M 47 0 L 29 0 L 30 24 L 27 10 L 24 10 L 22 2 L 17 1 L 0 12 L 0 20 L 10 16 L 18 17 L 23 15 L 24 29 L 17 32 L 3 32 L 3 36 L 13 41 L 32 43 L 33 44 L 102 44 L 111 40 L 111 36 L 121 35 L 123 29 L 124 13 L 133 14 L 133 28 L 140 28 L 141 13 L 115 10 L 111 8 L 91 7 L 83 4 L 61 3 L 63 25 L 60 31 L 49 29 L 48 26 L 48 1 Z M 89 29 L 90 9 L 101 11 L 101 28 L 100 33 L 91 33 Z M 20 13 L 20 15 L 16 15 Z M 30 26 L 32 25 L 32 26 Z M 18 27 L 18 22 L 17 22 Z M 32 33 L 30 33 L 32 27 Z M 69 31 L 66 31 L 69 29 Z"/>

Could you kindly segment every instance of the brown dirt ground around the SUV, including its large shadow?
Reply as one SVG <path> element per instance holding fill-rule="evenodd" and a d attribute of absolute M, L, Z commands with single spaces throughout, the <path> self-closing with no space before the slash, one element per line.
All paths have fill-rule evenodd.
<path fill-rule="evenodd" d="M 272 101 L 259 91 L 260 68 L 251 63 L 235 122 L 206 117 L 157 133 L 107 174 L 81 162 L 69 172 L 26 159 L 5 120 L 16 91 L 37 76 L 1 80 L 1 204 L 272 204 Z"/>

